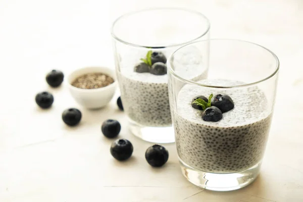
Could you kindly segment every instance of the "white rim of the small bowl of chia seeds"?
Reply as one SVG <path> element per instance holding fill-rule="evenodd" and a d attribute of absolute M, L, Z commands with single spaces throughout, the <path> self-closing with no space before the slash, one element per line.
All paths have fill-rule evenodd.
<path fill-rule="evenodd" d="M 80 71 L 80 70 L 83 70 L 83 69 L 91 69 L 91 68 L 98 68 L 100 69 L 100 71 L 96 71 L 97 72 L 101 72 L 101 73 L 104 73 L 102 71 L 102 69 L 107 69 L 109 70 L 112 75 L 110 75 L 113 79 L 114 79 L 114 82 L 111 83 L 110 85 L 107 85 L 107 86 L 104 86 L 104 87 L 100 87 L 100 88 L 93 88 L 93 89 L 85 89 L 85 88 L 77 88 L 75 86 L 73 86 L 70 82 L 70 77 L 72 74 L 76 73 L 77 71 Z M 83 73 L 85 74 L 85 73 Z M 108 68 L 108 67 L 104 67 L 104 66 L 85 66 L 85 67 L 81 67 L 81 68 L 77 68 L 75 70 L 73 70 L 72 72 L 69 73 L 68 77 L 67 77 L 67 83 L 69 85 L 70 88 L 72 89 L 75 89 L 75 90 L 78 90 L 78 91 L 85 91 L 85 92 L 95 92 L 95 91 L 105 91 L 105 90 L 109 90 L 110 88 L 112 88 L 113 86 L 116 86 L 116 83 L 117 83 L 117 78 L 116 78 L 116 74 L 115 74 L 115 71 L 112 70 L 111 68 Z"/>

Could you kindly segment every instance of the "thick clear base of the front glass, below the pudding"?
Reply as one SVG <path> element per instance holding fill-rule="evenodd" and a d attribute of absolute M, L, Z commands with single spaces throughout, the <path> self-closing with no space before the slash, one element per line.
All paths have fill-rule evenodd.
<path fill-rule="evenodd" d="M 194 169 L 185 164 L 180 158 L 179 161 L 182 174 L 189 182 L 201 188 L 214 191 L 231 191 L 247 186 L 257 178 L 261 167 L 260 162 L 238 173 L 218 174 Z"/>

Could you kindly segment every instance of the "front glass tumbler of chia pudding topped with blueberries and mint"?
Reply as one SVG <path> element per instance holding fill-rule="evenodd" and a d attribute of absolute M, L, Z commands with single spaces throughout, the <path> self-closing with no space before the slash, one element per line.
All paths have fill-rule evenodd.
<path fill-rule="evenodd" d="M 205 52 L 208 45 L 210 52 Z M 191 60 L 184 61 L 184 53 Z M 188 68 L 199 72 L 206 66 L 206 79 L 186 77 Z M 279 60 L 273 52 L 240 40 L 193 42 L 168 59 L 178 157 L 182 173 L 191 183 L 227 191 L 244 187 L 258 176 L 272 120 L 278 70 Z"/>

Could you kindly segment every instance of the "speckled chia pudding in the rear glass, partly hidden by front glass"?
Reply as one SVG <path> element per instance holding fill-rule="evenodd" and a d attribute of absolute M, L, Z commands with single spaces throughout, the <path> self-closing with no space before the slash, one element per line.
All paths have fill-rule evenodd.
<path fill-rule="evenodd" d="M 169 54 L 165 53 L 165 55 Z M 168 75 L 135 72 L 134 67 L 138 64 L 140 57 L 136 59 L 138 60 L 127 60 L 125 63 L 120 61 L 123 67 L 117 71 L 126 114 L 132 121 L 143 126 L 171 126 Z M 207 71 L 201 70 L 196 73 L 188 69 L 187 74 L 191 79 L 200 80 L 206 77 Z"/>

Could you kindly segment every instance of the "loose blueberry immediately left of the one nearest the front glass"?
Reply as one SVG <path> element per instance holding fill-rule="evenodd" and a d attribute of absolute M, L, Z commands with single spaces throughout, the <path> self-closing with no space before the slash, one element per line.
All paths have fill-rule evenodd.
<path fill-rule="evenodd" d="M 127 139 L 117 139 L 111 145 L 111 154 L 118 161 L 124 161 L 131 157 L 134 148 Z"/>

